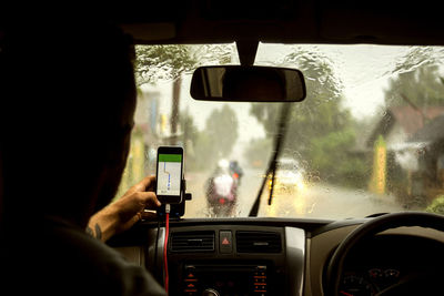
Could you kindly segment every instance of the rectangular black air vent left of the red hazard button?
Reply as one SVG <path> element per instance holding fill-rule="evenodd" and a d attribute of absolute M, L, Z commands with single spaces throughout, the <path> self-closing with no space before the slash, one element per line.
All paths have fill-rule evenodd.
<path fill-rule="evenodd" d="M 214 251 L 214 232 L 179 232 L 171 234 L 171 251 L 180 253 Z"/>

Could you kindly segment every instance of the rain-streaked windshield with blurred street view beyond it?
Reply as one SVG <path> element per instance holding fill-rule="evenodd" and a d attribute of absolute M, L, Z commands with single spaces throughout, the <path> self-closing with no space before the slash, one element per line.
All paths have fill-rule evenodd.
<path fill-rule="evenodd" d="M 184 217 L 346 218 L 444 211 L 444 48 L 264 44 L 255 64 L 300 69 L 300 103 L 190 98 L 192 70 L 239 64 L 235 44 L 139 45 L 131 152 L 120 192 L 184 149 Z M 280 110 L 290 109 L 268 204 Z M 443 195 L 444 196 L 444 195 Z M 225 211 L 228 210 L 228 211 Z M 443 212 L 444 213 L 444 212 Z"/>

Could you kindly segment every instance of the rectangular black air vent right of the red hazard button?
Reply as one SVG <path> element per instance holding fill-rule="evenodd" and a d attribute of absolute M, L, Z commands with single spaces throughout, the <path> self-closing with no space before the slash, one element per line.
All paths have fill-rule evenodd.
<path fill-rule="evenodd" d="M 236 232 L 238 253 L 281 253 L 281 234 L 274 232 Z"/>

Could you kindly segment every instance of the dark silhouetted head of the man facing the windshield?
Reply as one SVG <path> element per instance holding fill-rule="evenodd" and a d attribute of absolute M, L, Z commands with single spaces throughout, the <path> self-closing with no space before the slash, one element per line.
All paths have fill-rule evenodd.
<path fill-rule="evenodd" d="M 84 224 L 113 197 L 125 164 L 133 48 L 115 28 L 85 20 L 4 32 L 4 214 L 29 210 Z"/>

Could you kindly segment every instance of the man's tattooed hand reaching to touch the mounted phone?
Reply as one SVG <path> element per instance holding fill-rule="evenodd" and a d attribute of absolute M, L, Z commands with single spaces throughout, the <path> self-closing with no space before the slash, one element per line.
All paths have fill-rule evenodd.
<path fill-rule="evenodd" d="M 155 215 L 144 210 L 155 210 L 160 202 L 153 192 L 155 176 L 147 176 L 132 186 L 122 197 L 95 213 L 87 227 L 87 232 L 102 242 L 114 234 L 131 228 L 142 217 Z"/>

